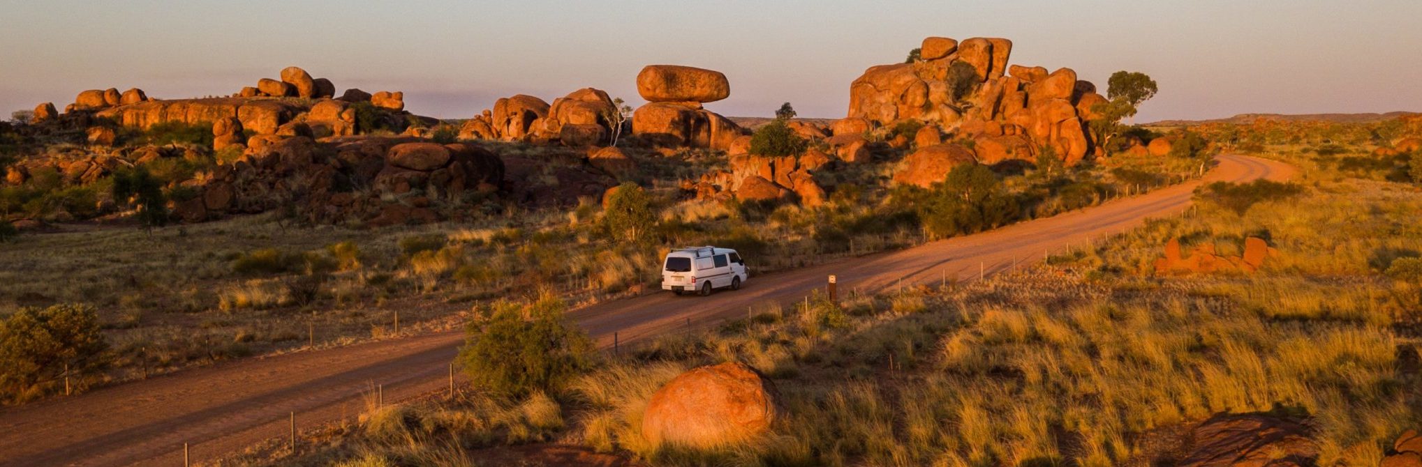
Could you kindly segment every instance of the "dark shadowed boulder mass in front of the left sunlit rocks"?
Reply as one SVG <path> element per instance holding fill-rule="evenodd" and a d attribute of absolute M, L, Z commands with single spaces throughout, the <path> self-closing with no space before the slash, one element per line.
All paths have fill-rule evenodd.
<path fill-rule="evenodd" d="M 299 214 L 319 223 L 428 223 L 462 216 L 438 211 L 434 200 L 492 193 L 502 179 L 503 162 L 471 143 L 259 135 L 236 162 L 186 182 L 201 196 L 176 200 L 173 214 L 202 221 L 293 203 Z"/>

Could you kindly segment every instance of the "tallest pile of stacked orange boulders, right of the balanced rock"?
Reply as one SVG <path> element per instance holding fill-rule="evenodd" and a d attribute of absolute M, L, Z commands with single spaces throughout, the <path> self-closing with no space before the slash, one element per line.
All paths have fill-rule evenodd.
<path fill-rule="evenodd" d="M 1042 148 L 1066 165 L 1091 155 L 1086 122 L 1096 118 L 1092 105 L 1106 99 L 1071 68 L 1010 65 L 1011 53 L 1005 38 L 924 38 L 917 60 L 870 67 L 850 84 L 849 115 L 833 132 L 856 135 L 919 121 L 931 128 L 926 132 L 947 136 L 937 141 L 971 141 L 963 149 L 978 163 L 1032 160 Z M 904 146 L 909 138 L 919 139 L 899 136 Z M 917 142 L 924 149 L 924 141 Z"/>

